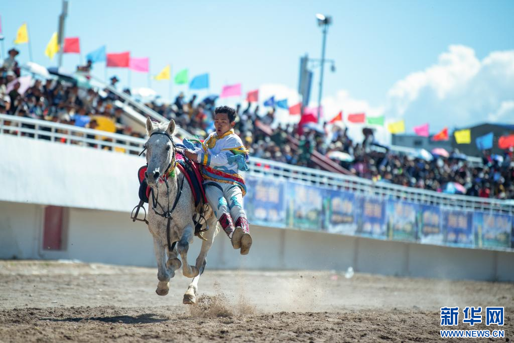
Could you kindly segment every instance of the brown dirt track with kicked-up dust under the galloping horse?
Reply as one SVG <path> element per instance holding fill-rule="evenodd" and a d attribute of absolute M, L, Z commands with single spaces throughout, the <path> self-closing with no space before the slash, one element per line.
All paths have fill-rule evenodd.
<path fill-rule="evenodd" d="M 177 274 L 169 295 L 159 297 L 156 274 L 155 268 L 0 261 L 0 341 L 428 342 L 442 340 L 441 306 L 495 305 L 505 306 L 498 329 L 514 338 L 512 283 L 207 270 L 202 298 L 186 306 L 190 279 Z M 471 328 L 462 313 L 460 321 L 458 329 Z"/>

